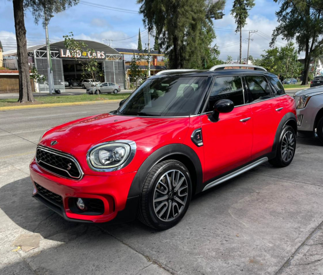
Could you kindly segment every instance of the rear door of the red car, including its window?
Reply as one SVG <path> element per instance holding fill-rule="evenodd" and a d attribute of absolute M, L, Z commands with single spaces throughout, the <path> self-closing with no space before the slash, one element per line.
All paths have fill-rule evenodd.
<path fill-rule="evenodd" d="M 270 153 L 283 117 L 284 105 L 274 97 L 269 81 L 264 75 L 246 75 L 249 103 L 253 117 L 252 159 Z"/>

